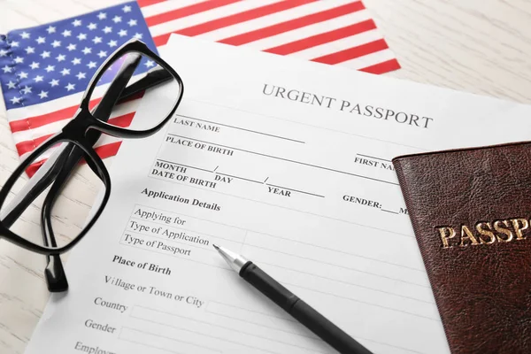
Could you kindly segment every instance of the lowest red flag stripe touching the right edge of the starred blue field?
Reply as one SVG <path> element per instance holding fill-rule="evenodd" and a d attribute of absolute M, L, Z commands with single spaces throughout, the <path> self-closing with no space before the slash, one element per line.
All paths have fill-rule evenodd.
<path fill-rule="evenodd" d="M 267 4 L 265 6 L 261 6 L 256 9 L 251 9 L 245 12 L 235 13 L 234 15 L 223 17 L 221 19 L 212 19 L 211 21 L 204 22 L 196 26 L 182 28 L 173 33 L 189 36 L 203 35 L 207 32 L 211 32 L 219 28 L 232 26 L 237 23 L 249 21 L 250 19 L 258 19 L 260 17 L 264 17 L 275 12 L 289 10 L 291 8 L 313 3 L 315 1 L 317 0 L 283 0 L 278 3 Z M 153 41 L 157 46 L 165 45 L 165 43 L 168 42 L 170 35 L 172 35 L 172 33 L 158 35 L 157 37 L 153 38 Z"/>

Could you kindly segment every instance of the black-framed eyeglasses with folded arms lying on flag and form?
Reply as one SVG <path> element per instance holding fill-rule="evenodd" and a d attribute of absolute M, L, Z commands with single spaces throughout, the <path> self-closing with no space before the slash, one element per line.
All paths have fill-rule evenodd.
<path fill-rule="evenodd" d="M 173 116 L 183 89 L 179 74 L 143 42 L 127 42 L 97 70 L 73 119 L 42 142 L 5 182 L 0 190 L 0 238 L 46 255 L 44 275 L 51 292 L 68 289 L 59 254 L 81 241 L 109 200 L 109 173 L 94 148 L 101 133 L 119 138 L 155 134 Z M 138 104 L 133 98 L 144 91 L 142 100 L 157 100 L 157 108 L 150 119 L 131 122 Z M 25 172 L 35 164 L 42 166 L 27 181 Z M 104 189 L 103 197 L 79 205 L 76 196 L 94 181 Z M 8 197 L 12 199 L 6 203 Z M 20 227 L 25 219 L 35 220 L 35 213 L 40 213 L 38 225 L 30 222 L 28 227 L 26 222 Z M 84 223 L 72 225 L 73 219 Z"/>

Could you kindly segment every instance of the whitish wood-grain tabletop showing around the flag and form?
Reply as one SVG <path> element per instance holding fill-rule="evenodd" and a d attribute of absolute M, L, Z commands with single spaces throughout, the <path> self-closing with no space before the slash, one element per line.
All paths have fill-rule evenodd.
<path fill-rule="evenodd" d="M 0 0 L 0 33 L 121 2 Z M 386 75 L 531 103 L 531 2 L 364 0 L 364 3 L 403 65 L 401 70 Z M 4 104 L 0 103 L 0 186 L 18 164 Z M 71 203 L 84 202 L 94 195 L 89 186 L 85 187 L 87 191 L 73 196 Z M 27 220 L 22 227 L 35 227 L 31 224 Z M 42 256 L 0 241 L 0 353 L 22 353 L 25 349 L 49 296 L 42 279 L 43 265 Z"/>

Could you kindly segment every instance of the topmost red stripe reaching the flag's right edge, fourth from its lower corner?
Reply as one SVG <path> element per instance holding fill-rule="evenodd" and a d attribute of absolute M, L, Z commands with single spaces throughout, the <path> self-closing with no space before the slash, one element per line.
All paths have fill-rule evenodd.
<path fill-rule="evenodd" d="M 364 9 L 365 6 L 360 1 L 356 1 L 354 3 L 338 6 L 323 12 L 312 13 L 311 15 L 306 15 L 298 19 L 291 19 L 273 26 L 260 28 L 242 35 L 228 37 L 219 42 L 232 45 L 242 45 L 249 42 L 258 41 L 259 39 L 271 37 L 273 35 L 280 35 L 281 33 L 292 31 L 296 28 L 313 25 L 328 19 L 335 19 L 336 17 L 343 16 L 351 12 L 358 12 Z"/>

